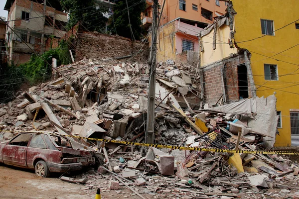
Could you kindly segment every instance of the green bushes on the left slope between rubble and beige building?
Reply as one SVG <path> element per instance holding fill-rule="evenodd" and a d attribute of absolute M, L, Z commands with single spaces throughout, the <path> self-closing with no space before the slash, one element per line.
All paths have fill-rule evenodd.
<path fill-rule="evenodd" d="M 8 102 L 15 96 L 20 86 L 27 82 L 31 85 L 45 82 L 51 78 L 52 58 L 57 59 L 57 66 L 70 64 L 69 40 L 61 40 L 59 48 L 50 49 L 41 56 L 32 55 L 27 63 L 17 64 L 9 62 L 7 67 L 0 70 L 0 103 Z"/>

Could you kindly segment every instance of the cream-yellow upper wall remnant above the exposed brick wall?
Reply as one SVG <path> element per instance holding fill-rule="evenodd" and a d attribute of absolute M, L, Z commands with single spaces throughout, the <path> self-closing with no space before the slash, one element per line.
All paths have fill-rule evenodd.
<path fill-rule="evenodd" d="M 217 27 L 216 34 L 216 49 L 213 50 L 213 35 L 214 29 L 207 35 L 201 38 L 204 51 L 201 52 L 201 65 L 205 66 L 213 62 L 219 61 L 225 57 L 229 57 L 231 53 L 237 53 L 236 48 L 230 48 L 229 44 L 220 44 L 221 41 L 228 42 L 229 26 L 223 24 L 220 28 Z"/>

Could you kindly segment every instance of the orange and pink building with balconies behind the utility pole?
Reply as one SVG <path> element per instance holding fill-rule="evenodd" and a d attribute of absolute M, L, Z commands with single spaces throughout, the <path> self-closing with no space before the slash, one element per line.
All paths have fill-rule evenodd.
<path fill-rule="evenodd" d="M 157 61 L 168 59 L 177 62 L 187 62 L 191 65 L 197 59 L 198 39 L 195 36 L 214 17 L 225 13 L 227 2 L 219 0 L 159 0 L 159 44 Z M 152 0 L 147 0 L 147 6 L 142 13 L 145 29 L 152 23 Z"/>

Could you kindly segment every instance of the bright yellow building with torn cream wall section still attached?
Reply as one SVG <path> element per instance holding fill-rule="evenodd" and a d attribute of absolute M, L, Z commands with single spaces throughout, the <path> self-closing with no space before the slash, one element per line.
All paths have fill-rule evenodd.
<path fill-rule="evenodd" d="M 226 23 L 216 27 L 216 48 L 212 46 L 214 31 L 200 38 L 201 66 L 246 50 L 252 70 L 252 74 L 247 73 L 248 93 L 253 96 L 256 93 L 258 97 L 275 93 L 277 98 L 276 108 L 281 117 L 275 146 L 299 146 L 298 0 L 232 0 L 230 3 Z M 238 58 L 234 64 L 246 63 L 243 59 Z M 238 77 L 240 74 L 238 69 Z"/>

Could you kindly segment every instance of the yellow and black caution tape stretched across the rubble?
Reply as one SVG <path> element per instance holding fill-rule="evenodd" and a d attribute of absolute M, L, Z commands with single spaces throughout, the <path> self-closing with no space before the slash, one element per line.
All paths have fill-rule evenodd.
<path fill-rule="evenodd" d="M 0 132 L 14 132 L 14 131 L 0 131 Z M 18 133 L 47 133 L 47 134 L 55 134 L 56 133 L 46 132 L 46 131 L 17 131 Z M 107 140 L 107 139 L 99 139 L 99 138 L 89 138 L 89 137 L 80 137 L 74 135 L 61 135 L 66 137 L 72 137 L 77 139 L 86 139 L 86 140 L 95 140 L 95 141 L 103 141 L 105 143 L 117 143 L 117 144 L 128 144 L 134 146 L 144 146 L 144 147 L 155 147 L 155 148 L 167 148 L 167 149 L 178 149 L 178 150 L 188 150 L 188 151 L 207 151 L 207 152 L 216 152 L 216 153 L 246 153 L 246 154 L 265 154 L 265 155 L 299 155 L 299 152 L 289 152 L 289 151 L 247 151 L 247 150 L 235 150 L 235 149 L 218 149 L 218 148 L 199 148 L 199 147 L 184 147 L 184 146 L 171 146 L 171 145 L 161 145 L 161 144 L 147 144 L 147 143 L 138 143 L 138 142 L 126 142 L 120 140 Z"/>

